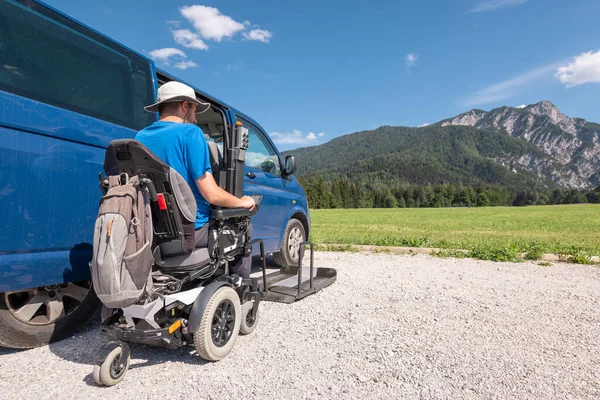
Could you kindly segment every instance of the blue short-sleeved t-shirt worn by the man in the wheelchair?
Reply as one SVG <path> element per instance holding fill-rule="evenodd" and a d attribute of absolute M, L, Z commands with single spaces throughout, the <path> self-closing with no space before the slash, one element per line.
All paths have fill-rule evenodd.
<path fill-rule="evenodd" d="M 157 121 L 135 135 L 158 158 L 186 180 L 196 198 L 196 229 L 208 222 L 210 203 L 200 194 L 196 179 L 212 173 L 208 145 L 202 130 L 193 124 Z"/>

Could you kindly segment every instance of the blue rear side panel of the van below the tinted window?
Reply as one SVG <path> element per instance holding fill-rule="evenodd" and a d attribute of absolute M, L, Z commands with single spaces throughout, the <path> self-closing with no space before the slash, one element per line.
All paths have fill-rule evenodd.
<path fill-rule="evenodd" d="M 0 292 L 89 279 L 108 143 L 135 131 L 0 91 Z"/>

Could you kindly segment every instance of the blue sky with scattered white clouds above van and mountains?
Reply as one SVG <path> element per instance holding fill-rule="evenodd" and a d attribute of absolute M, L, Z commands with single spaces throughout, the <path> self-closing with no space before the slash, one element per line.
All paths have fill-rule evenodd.
<path fill-rule="evenodd" d="M 550 100 L 600 122 L 597 0 L 48 0 L 280 149 Z"/>

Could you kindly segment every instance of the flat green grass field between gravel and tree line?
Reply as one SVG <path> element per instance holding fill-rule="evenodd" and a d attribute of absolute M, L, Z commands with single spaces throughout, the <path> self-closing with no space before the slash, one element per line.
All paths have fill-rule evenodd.
<path fill-rule="evenodd" d="M 600 205 L 311 210 L 315 243 L 468 250 L 475 258 L 537 259 L 555 253 L 585 263 L 600 254 Z"/>

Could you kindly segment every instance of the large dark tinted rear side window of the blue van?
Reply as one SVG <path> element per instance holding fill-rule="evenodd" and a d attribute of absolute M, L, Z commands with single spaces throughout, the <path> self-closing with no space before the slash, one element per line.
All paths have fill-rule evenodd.
<path fill-rule="evenodd" d="M 0 1 L 0 90 L 132 129 L 156 119 L 148 61 L 30 1 Z"/>

